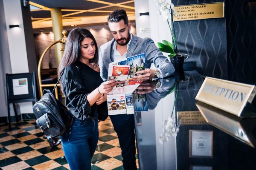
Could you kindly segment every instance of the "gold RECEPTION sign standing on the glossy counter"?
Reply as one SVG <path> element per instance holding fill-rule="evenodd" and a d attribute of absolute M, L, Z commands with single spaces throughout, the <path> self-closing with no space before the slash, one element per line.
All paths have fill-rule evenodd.
<path fill-rule="evenodd" d="M 195 99 L 241 116 L 247 102 L 255 96 L 255 86 L 206 77 Z"/>

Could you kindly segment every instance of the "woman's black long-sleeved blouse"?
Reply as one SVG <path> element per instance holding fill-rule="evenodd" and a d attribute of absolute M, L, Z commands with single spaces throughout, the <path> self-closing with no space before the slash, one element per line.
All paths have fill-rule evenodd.
<path fill-rule="evenodd" d="M 61 87 L 66 96 L 66 106 L 78 119 L 96 119 L 99 111 L 108 112 L 107 102 L 90 106 L 87 95 L 103 82 L 100 73 L 88 65 L 77 61 L 65 68 L 61 77 Z"/>

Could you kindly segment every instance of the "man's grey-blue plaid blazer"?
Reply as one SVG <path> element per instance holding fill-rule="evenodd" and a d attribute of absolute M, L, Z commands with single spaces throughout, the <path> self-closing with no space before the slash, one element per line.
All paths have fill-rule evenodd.
<path fill-rule="evenodd" d="M 113 60 L 113 44 L 114 39 L 103 44 L 99 48 L 99 68 L 100 76 L 103 81 L 108 80 L 108 64 Z M 171 62 L 161 53 L 154 41 L 150 38 L 140 38 L 132 36 L 131 43 L 127 51 L 127 57 L 145 53 L 145 68 L 150 68 L 151 63 L 154 63 L 156 68 L 161 71 L 160 78 L 172 75 L 175 69 Z"/>

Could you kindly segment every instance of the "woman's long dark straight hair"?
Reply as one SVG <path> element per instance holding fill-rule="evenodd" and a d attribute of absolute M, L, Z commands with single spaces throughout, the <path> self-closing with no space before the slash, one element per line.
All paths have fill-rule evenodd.
<path fill-rule="evenodd" d="M 67 42 L 65 43 L 65 50 L 63 53 L 63 58 L 58 67 L 58 77 L 61 76 L 62 71 L 69 65 L 74 64 L 81 55 L 81 42 L 85 37 L 91 38 L 94 41 L 95 45 L 95 54 L 93 59 L 90 59 L 90 63 L 93 63 L 95 66 L 98 65 L 98 46 L 96 43 L 93 34 L 89 30 L 84 28 L 74 28 L 70 31 Z"/>

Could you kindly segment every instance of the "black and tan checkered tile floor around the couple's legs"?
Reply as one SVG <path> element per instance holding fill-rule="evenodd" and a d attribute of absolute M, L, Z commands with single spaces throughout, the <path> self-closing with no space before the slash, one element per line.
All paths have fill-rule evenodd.
<path fill-rule="evenodd" d="M 137 151 L 136 151 L 137 152 Z M 136 155 L 137 156 L 137 155 Z M 111 120 L 99 122 L 99 142 L 92 170 L 122 170 L 121 149 Z M 138 159 L 136 160 L 139 167 Z M 67 170 L 61 144 L 49 146 L 35 120 L 0 124 L 0 170 Z"/>

